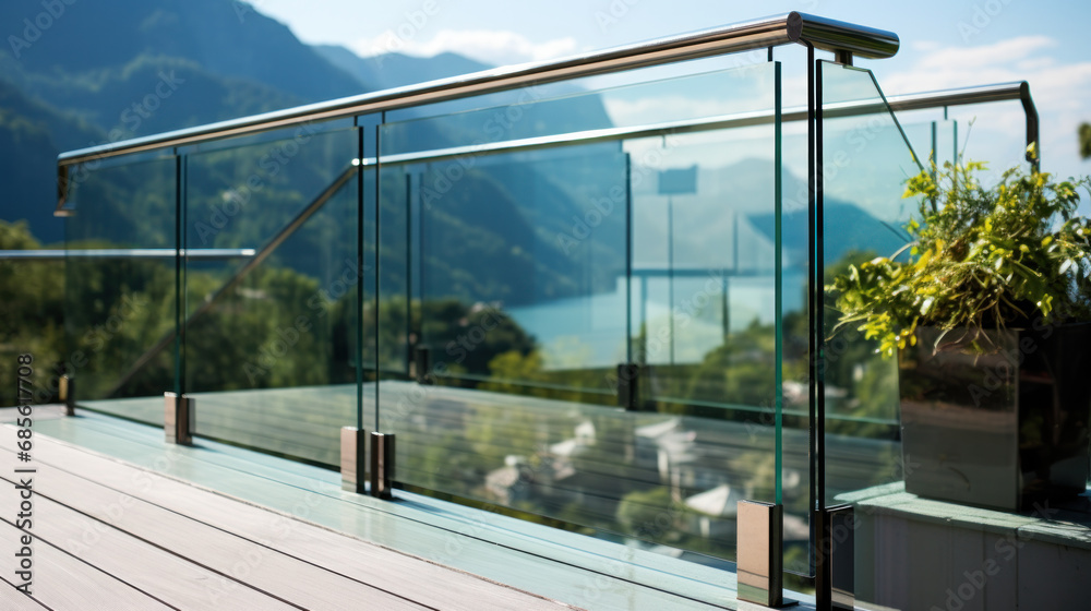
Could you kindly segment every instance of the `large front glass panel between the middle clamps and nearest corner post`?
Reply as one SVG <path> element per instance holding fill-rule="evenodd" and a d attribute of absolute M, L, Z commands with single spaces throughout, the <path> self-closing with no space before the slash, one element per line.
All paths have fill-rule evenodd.
<path fill-rule="evenodd" d="M 734 558 L 735 503 L 777 496 L 779 72 L 695 79 L 723 97 L 600 127 L 758 108 L 769 122 L 383 160 L 379 333 L 400 348 L 383 351 L 380 423 L 398 435 L 399 482 Z M 660 108 L 704 99 L 675 85 L 692 82 L 640 93 Z M 610 108 L 612 95 L 578 99 Z M 535 108 L 544 127 L 524 135 L 573 129 Z M 469 144 L 497 110 L 428 120 L 466 128 L 428 147 Z M 423 124 L 383 125 L 383 151 L 425 148 L 410 139 Z M 425 362 L 432 385 L 412 381 Z M 626 362 L 642 367 L 637 411 L 616 407 Z M 793 532 L 805 547 L 805 523 Z"/>

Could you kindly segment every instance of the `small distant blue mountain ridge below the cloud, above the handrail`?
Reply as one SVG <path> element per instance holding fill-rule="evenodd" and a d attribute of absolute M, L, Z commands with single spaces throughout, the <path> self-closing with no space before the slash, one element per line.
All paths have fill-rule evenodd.
<path fill-rule="evenodd" d="M 492 68 L 489 64 L 451 52 L 430 58 L 418 58 L 403 53 L 361 58 L 338 45 L 317 45 L 314 50 L 326 58 L 329 63 L 355 76 L 362 85 L 370 84 L 380 89 L 469 74 Z"/>

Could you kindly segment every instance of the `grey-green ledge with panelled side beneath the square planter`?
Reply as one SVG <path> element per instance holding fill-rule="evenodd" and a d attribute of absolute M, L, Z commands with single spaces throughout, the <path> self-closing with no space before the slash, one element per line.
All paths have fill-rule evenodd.
<path fill-rule="evenodd" d="M 921 499 L 901 482 L 838 496 L 855 507 L 861 607 L 1086 609 L 1091 496 L 1006 513 Z"/>

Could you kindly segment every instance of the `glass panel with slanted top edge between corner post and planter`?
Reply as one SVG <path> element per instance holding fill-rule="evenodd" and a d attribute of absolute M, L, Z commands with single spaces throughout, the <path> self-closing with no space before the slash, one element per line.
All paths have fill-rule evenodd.
<path fill-rule="evenodd" d="M 918 152 L 923 157 L 915 156 L 870 71 L 819 62 L 818 79 L 824 108 L 856 101 L 872 109 L 823 120 L 823 277 L 828 285 L 848 265 L 891 256 L 907 244 L 903 226 L 918 204 L 902 199 L 904 181 L 921 170 L 918 159 L 926 163 L 939 137 L 933 139 L 931 123 L 918 125 L 911 133 L 925 148 Z M 949 154 L 940 152 L 944 157 Z M 897 361 L 878 356 L 877 343 L 854 326 L 832 333 L 839 316 L 836 296 L 825 295 L 824 312 L 826 460 L 818 468 L 825 468 L 823 501 L 829 506 L 870 494 L 861 491 L 901 486 L 903 462 Z M 866 529 L 856 535 L 858 585 L 871 583 L 872 563 L 859 560 L 871 558 L 867 535 Z M 867 587 L 858 588 L 862 601 L 867 601 Z"/>

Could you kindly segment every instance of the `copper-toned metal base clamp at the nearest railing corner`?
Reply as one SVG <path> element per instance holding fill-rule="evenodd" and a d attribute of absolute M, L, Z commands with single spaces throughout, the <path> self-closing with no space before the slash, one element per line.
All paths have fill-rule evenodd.
<path fill-rule="evenodd" d="M 783 505 L 739 502 L 739 600 L 783 604 Z"/>

